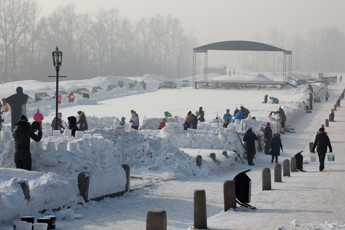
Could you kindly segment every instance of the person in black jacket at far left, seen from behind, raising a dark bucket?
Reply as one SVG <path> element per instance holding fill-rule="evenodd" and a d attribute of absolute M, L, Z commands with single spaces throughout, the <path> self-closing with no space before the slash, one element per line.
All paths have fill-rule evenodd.
<path fill-rule="evenodd" d="M 12 136 L 14 138 L 13 156 L 16 168 L 31 171 L 30 138 L 34 141 L 40 141 L 42 138 L 42 128 L 38 128 L 38 134 L 36 135 L 31 130 L 28 118 L 21 115 L 20 120 L 15 123 Z"/>

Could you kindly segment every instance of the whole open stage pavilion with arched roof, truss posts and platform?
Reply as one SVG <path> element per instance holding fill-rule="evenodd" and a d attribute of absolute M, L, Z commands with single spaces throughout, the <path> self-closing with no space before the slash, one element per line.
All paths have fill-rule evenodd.
<path fill-rule="evenodd" d="M 283 81 L 224 81 L 224 80 L 207 80 L 207 51 L 208 50 L 237 50 L 237 51 L 280 51 L 284 52 L 283 63 Z M 196 82 L 196 53 L 204 53 L 204 80 Z M 287 69 L 288 62 L 288 69 Z M 273 46 L 266 43 L 255 41 L 221 41 L 196 47 L 193 49 L 193 88 L 280 88 L 285 84 L 291 84 L 292 51 L 282 47 Z"/>

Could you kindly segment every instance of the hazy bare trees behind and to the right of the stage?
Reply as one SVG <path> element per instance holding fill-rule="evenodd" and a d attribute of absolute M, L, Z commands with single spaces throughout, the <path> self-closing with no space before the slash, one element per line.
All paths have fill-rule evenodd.
<path fill-rule="evenodd" d="M 288 35 L 284 29 L 257 32 L 253 41 L 292 50 L 292 71 L 342 72 L 345 70 L 345 36 L 337 27 L 311 28 Z M 240 66 L 252 71 L 283 72 L 283 52 L 242 52 Z"/>

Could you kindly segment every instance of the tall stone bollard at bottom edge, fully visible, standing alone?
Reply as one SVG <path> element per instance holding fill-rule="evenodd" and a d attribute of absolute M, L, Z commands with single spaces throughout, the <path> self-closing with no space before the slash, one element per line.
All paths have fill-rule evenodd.
<path fill-rule="evenodd" d="M 207 229 L 207 213 L 206 213 L 206 192 L 205 190 L 194 190 L 194 228 Z"/>

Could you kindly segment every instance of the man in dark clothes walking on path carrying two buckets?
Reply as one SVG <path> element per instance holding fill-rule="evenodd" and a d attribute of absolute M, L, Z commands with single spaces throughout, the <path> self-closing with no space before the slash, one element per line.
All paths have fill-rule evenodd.
<path fill-rule="evenodd" d="M 320 171 L 325 169 L 325 157 L 327 153 L 327 146 L 329 148 L 329 152 L 332 152 L 331 141 L 329 141 L 329 137 L 327 136 L 325 129 L 319 128 L 319 133 L 316 134 L 312 152 L 315 153 L 316 148 L 316 152 L 319 155 Z"/>

